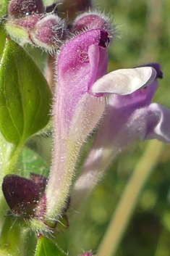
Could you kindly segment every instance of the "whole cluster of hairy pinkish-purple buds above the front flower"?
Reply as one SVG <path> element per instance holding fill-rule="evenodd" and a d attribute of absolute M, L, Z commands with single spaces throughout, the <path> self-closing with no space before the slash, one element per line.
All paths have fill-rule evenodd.
<path fill-rule="evenodd" d="M 52 7 L 54 9 L 51 11 Z M 56 12 L 54 4 L 51 7 L 43 7 L 41 0 L 12 0 L 9 3 L 7 32 L 21 45 L 32 44 L 50 54 L 55 54 L 64 41 L 75 33 L 98 28 L 105 30 L 109 38 L 114 33 L 108 17 L 101 13 L 83 12 L 70 25 Z"/>

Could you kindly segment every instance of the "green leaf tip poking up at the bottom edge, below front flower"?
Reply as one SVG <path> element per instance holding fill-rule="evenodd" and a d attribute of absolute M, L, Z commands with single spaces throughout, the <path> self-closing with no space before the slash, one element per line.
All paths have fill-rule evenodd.
<path fill-rule="evenodd" d="M 35 256 L 66 256 L 56 244 L 51 240 L 46 239 L 44 236 L 40 235 L 38 238 L 38 244 L 35 251 Z M 68 256 L 68 255 L 67 255 Z"/>

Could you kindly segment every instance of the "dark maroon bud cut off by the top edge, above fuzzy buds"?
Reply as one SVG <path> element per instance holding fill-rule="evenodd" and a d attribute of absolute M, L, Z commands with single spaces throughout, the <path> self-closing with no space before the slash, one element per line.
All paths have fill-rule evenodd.
<path fill-rule="evenodd" d="M 9 3 L 9 15 L 14 18 L 43 13 L 42 0 L 12 0 Z"/>

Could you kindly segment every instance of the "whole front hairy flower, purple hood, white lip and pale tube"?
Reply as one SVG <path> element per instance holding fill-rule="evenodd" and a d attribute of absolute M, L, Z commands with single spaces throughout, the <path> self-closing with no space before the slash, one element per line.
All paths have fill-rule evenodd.
<path fill-rule="evenodd" d="M 67 202 L 80 148 L 106 110 L 105 96 L 132 94 L 156 76 L 153 67 L 115 70 L 106 75 L 109 41 L 106 30 L 93 28 L 76 34 L 59 51 L 46 218 L 57 218 Z"/>

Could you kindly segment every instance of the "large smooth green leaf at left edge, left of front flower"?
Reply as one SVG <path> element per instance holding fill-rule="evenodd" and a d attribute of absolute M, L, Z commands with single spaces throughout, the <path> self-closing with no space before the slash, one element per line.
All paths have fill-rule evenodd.
<path fill-rule="evenodd" d="M 43 74 L 21 46 L 7 39 L 0 67 L 0 131 L 23 144 L 49 120 L 51 91 Z"/>

